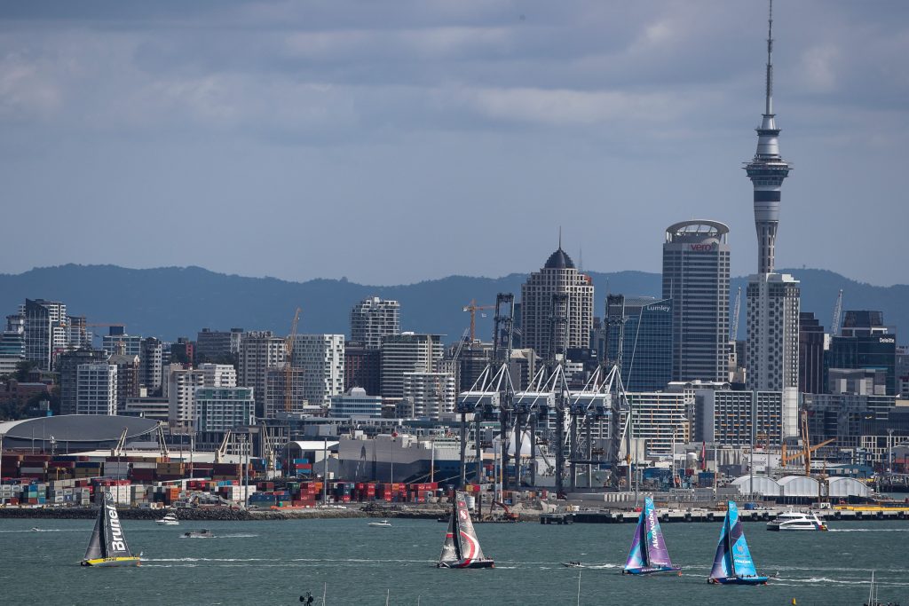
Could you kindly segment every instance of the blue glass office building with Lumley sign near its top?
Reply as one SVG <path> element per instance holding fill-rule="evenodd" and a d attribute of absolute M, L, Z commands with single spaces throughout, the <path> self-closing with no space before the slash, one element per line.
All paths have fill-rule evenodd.
<path fill-rule="evenodd" d="M 625 389 L 664 390 L 673 380 L 673 300 L 610 294 L 605 325 L 606 360 L 621 360 Z"/>

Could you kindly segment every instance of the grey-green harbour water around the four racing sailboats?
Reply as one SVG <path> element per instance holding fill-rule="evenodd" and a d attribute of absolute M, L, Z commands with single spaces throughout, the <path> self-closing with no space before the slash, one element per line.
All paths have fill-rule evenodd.
<path fill-rule="evenodd" d="M 871 572 L 881 601 L 909 604 L 906 522 L 831 523 L 828 532 L 768 532 L 744 522 L 760 587 L 708 585 L 719 522 L 664 524 L 682 577 L 620 574 L 633 524 L 479 524 L 493 570 L 435 568 L 445 524 L 392 520 L 125 522 L 136 569 L 78 565 L 91 520 L 0 520 L 0 602 L 7 604 L 862 604 Z M 38 531 L 32 530 L 33 527 Z M 186 539 L 209 528 L 213 539 Z M 588 568 L 569 569 L 578 560 Z"/>

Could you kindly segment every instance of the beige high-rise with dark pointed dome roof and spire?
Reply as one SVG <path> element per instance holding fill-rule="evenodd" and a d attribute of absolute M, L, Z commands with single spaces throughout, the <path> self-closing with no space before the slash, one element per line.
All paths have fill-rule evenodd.
<path fill-rule="evenodd" d="M 590 344 L 594 327 L 594 282 L 580 273 L 571 257 L 558 249 L 539 272 L 521 285 L 521 346 L 542 358 Z"/>

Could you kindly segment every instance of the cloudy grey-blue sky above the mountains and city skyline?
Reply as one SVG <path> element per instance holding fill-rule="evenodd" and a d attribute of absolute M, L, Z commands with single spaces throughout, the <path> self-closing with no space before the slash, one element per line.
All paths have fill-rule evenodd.
<path fill-rule="evenodd" d="M 0 4 L 0 273 L 756 271 L 763 0 Z M 777 267 L 909 283 L 909 3 L 777 0 Z"/>

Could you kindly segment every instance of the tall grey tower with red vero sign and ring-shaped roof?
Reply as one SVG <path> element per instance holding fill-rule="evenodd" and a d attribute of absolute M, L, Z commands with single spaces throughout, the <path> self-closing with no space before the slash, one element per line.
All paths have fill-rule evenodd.
<path fill-rule="evenodd" d="M 672 299 L 674 381 L 729 378 L 728 233 L 709 220 L 666 228 L 663 298 Z"/>

